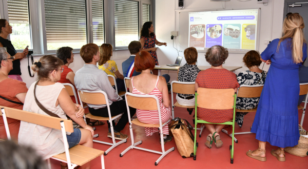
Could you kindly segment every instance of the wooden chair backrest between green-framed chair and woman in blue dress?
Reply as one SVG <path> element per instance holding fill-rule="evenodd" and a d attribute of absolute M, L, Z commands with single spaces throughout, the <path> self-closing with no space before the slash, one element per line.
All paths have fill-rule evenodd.
<path fill-rule="evenodd" d="M 237 97 L 246 97 L 246 98 L 253 98 L 253 97 L 260 97 L 262 93 L 264 85 L 241 85 L 238 89 Z"/>

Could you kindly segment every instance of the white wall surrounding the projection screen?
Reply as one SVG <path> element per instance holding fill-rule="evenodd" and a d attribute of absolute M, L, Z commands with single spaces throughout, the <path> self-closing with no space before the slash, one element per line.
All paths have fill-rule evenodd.
<path fill-rule="evenodd" d="M 178 55 L 176 49 L 172 47 L 170 32 L 179 31 L 180 11 L 223 9 L 221 2 L 210 2 L 210 0 L 185 0 L 184 10 L 177 9 L 177 4 L 178 0 L 156 0 L 155 33 L 159 41 L 167 43 L 167 47 L 161 46 L 157 50 L 160 65 L 170 63 L 173 64 Z M 225 10 L 261 8 L 259 51 L 262 52 L 267 46 L 264 45 L 264 40 L 272 40 L 281 37 L 283 23 L 283 6 L 283 0 L 268 0 L 267 6 L 264 6 L 263 4 L 257 4 L 257 0 L 247 2 L 231 0 L 225 3 Z M 271 20 L 273 20 L 273 22 L 271 22 Z M 271 26 L 273 26 L 272 31 Z M 175 43 L 179 47 L 179 39 L 176 38 Z M 208 62 L 205 61 L 204 54 L 205 53 L 198 53 L 198 65 L 209 66 Z M 180 56 L 184 56 L 183 52 L 180 52 Z M 242 66 L 243 68 L 237 70 L 236 74 L 243 70 L 247 70 L 247 68 L 244 67 L 244 64 L 242 62 L 243 56 L 244 54 L 229 54 L 229 57 L 225 61 L 224 66 Z M 183 59 L 182 65 L 184 65 L 185 63 L 186 61 L 185 59 Z M 268 68 L 269 67 L 265 65 L 263 70 L 267 71 Z M 162 73 L 167 73 L 167 71 L 164 71 Z M 176 80 L 176 71 L 170 71 L 169 75 L 171 76 L 171 80 Z"/>

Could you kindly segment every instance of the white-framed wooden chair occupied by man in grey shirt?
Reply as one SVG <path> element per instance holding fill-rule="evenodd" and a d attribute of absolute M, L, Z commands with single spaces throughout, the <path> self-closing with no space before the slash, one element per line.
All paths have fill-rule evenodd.
<path fill-rule="evenodd" d="M 106 104 L 107 105 L 109 117 L 93 116 L 93 115 L 91 115 L 91 113 L 86 115 L 86 117 L 89 118 L 89 119 L 100 120 L 100 121 L 106 120 L 106 121 L 109 121 L 109 123 L 110 123 L 112 143 L 99 141 L 99 140 L 93 140 L 93 142 L 112 145 L 108 150 L 105 151 L 104 155 L 106 156 L 114 147 L 116 147 L 116 146 L 118 146 L 122 143 L 125 143 L 126 139 L 121 140 L 118 143 L 115 142 L 112 120 L 120 117 L 122 114 L 111 117 L 107 94 L 104 91 L 92 91 L 91 92 L 91 91 L 85 91 L 85 90 L 84 91 L 78 90 L 78 95 L 79 95 L 80 102 L 83 101 L 87 104 Z"/>

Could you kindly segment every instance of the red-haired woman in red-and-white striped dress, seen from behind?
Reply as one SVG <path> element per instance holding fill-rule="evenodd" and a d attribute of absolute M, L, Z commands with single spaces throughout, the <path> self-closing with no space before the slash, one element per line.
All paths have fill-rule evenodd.
<path fill-rule="evenodd" d="M 131 93 L 157 96 L 160 103 L 162 123 L 168 121 L 171 118 L 171 109 L 166 79 L 162 76 L 151 74 L 151 70 L 155 68 L 155 61 L 151 54 L 146 51 L 137 53 L 134 67 L 141 74 L 130 78 L 129 89 L 132 89 Z M 159 124 L 158 118 L 151 118 L 152 116 L 158 117 L 158 111 L 137 109 L 136 113 L 138 120 L 141 122 Z M 145 128 L 146 136 L 151 136 L 155 132 L 158 132 L 158 128 Z M 172 137 L 169 136 L 168 125 L 163 127 L 163 134 L 164 144 L 172 140 Z"/>

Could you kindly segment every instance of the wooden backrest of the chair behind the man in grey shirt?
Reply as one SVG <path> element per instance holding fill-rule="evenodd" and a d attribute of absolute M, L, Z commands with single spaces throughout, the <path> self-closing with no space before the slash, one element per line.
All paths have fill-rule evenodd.
<path fill-rule="evenodd" d="M 106 100 L 108 100 L 107 94 L 104 91 L 78 90 L 78 95 L 81 101 L 88 104 L 106 104 Z"/>

